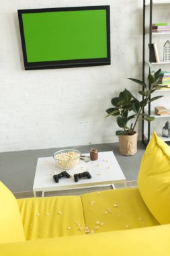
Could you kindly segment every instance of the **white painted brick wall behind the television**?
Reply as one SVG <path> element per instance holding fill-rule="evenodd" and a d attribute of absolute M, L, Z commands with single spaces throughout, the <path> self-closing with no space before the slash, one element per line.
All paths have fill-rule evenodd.
<path fill-rule="evenodd" d="M 17 9 L 110 5 L 112 65 L 25 71 Z M 117 141 L 110 99 L 141 77 L 142 1 L 0 1 L 0 152 Z"/>

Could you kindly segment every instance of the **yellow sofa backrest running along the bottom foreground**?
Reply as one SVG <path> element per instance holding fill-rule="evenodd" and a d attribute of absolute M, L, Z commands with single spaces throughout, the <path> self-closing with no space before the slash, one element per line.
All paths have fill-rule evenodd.
<path fill-rule="evenodd" d="M 169 256 L 169 225 L 0 245 L 3 256 Z"/>

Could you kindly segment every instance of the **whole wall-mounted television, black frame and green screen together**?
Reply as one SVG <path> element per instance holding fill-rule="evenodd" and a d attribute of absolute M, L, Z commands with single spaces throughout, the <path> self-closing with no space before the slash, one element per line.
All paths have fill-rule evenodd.
<path fill-rule="evenodd" d="M 110 65 L 110 6 L 20 9 L 25 69 Z"/>

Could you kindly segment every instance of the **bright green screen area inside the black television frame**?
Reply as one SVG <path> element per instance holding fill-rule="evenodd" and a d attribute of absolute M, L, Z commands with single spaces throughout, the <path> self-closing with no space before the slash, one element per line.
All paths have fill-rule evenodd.
<path fill-rule="evenodd" d="M 106 10 L 22 13 L 28 63 L 107 57 Z"/>

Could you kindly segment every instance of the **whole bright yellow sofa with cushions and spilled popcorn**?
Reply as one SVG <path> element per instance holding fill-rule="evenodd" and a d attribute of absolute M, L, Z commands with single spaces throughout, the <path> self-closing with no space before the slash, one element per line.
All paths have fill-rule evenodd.
<path fill-rule="evenodd" d="M 154 133 L 138 188 L 15 199 L 0 183 L 0 255 L 170 255 L 169 160 Z"/>

